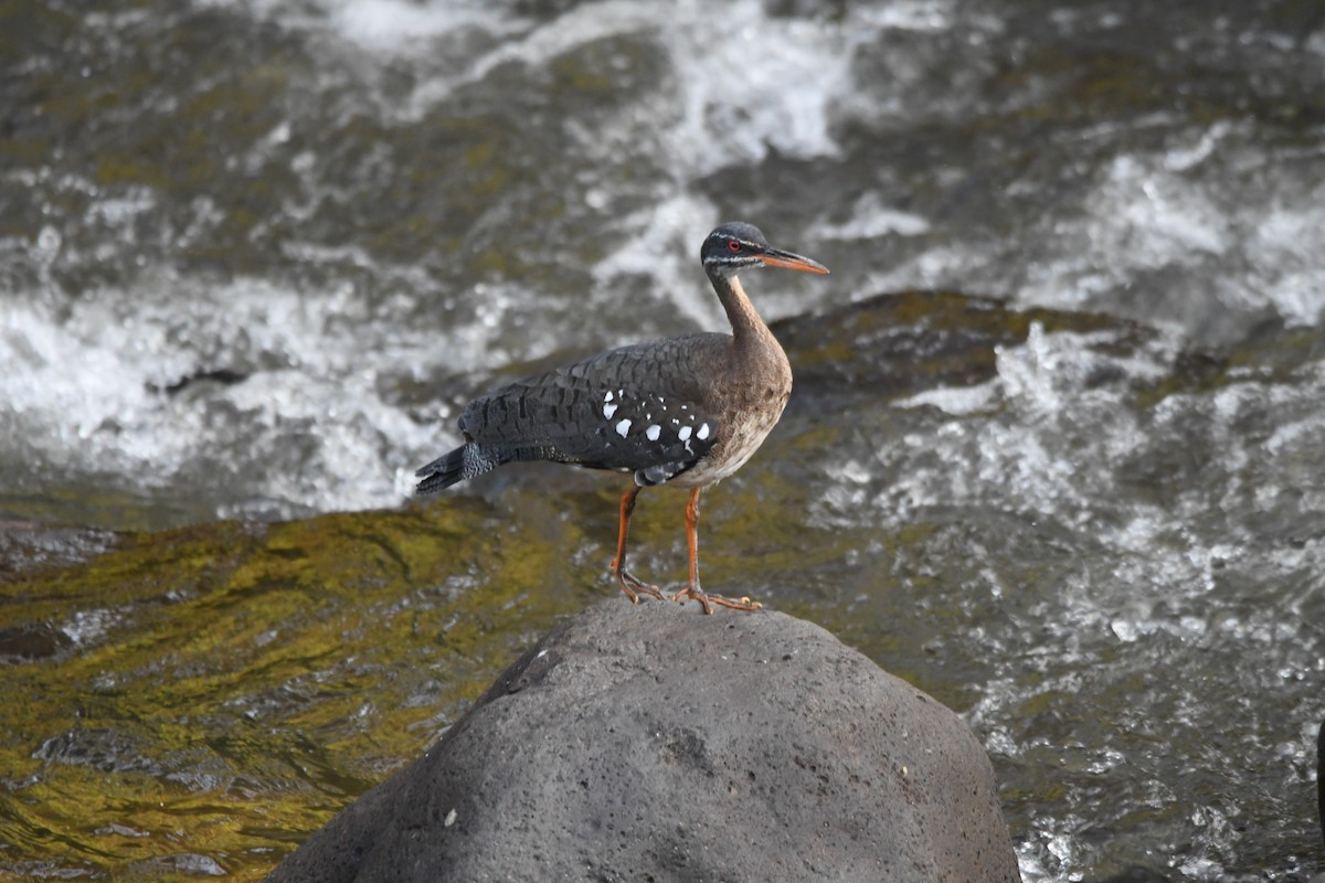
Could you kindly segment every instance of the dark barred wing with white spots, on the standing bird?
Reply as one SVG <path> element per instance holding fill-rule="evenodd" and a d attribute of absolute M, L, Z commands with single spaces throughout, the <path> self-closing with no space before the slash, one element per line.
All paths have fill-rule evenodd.
<path fill-rule="evenodd" d="M 701 404 L 702 365 L 729 342 L 700 334 L 612 349 L 489 392 L 465 409 L 460 428 L 511 459 L 640 471 L 660 483 L 717 440 L 718 420 Z"/>

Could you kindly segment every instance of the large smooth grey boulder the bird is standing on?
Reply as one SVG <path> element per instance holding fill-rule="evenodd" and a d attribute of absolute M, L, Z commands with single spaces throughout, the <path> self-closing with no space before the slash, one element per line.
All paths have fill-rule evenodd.
<path fill-rule="evenodd" d="M 1018 880 L 979 743 L 823 629 L 620 598 L 270 880 Z"/>

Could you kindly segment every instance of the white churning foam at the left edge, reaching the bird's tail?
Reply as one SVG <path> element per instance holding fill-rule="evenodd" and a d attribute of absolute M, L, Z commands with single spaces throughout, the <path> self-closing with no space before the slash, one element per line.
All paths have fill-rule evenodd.
<path fill-rule="evenodd" d="M 34 470 L 95 469 L 147 488 L 212 482 L 197 491 L 235 500 L 219 515 L 394 506 L 411 490 L 411 467 L 456 438 L 447 416 L 420 420 L 390 385 L 439 364 L 509 357 L 494 346 L 496 323 L 444 339 L 412 334 L 348 290 L 154 286 L 90 293 L 61 310 L 7 307 L 0 424 Z M 183 311 L 179 287 L 192 289 Z M 244 377 L 166 392 L 212 371 Z"/>

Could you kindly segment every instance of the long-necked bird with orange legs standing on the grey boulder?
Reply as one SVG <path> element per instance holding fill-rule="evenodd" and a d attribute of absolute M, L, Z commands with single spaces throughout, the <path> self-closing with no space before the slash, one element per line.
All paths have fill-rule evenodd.
<path fill-rule="evenodd" d="M 553 461 L 632 473 L 621 494 L 612 576 L 632 602 L 664 600 L 659 586 L 625 565 L 635 502 L 645 487 L 689 488 L 685 535 L 689 582 L 673 601 L 757 610 L 700 585 L 700 492 L 735 473 L 755 453 L 791 397 L 791 365 L 750 303 L 738 277 L 783 267 L 827 274 L 828 267 L 768 245 L 751 224 L 716 228 L 700 261 L 731 334 L 694 332 L 611 349 L 493 389 L 460 416 L 464 443 L 417 470 L 416 494 L 429 494 L 521 461 Z"/>

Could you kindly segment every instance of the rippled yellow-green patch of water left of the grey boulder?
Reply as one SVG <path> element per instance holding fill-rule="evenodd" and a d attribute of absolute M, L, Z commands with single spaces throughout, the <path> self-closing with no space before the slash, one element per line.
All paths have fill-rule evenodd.
<path fill-rule="evenodd" d="M 564 537 L 523 532 L 464 500 L 219 523 L 0 585 L 0 630 L 74 638 L 3 667 L 0 867 L 257 879 L 571 609 L 533 590 Z"/>

